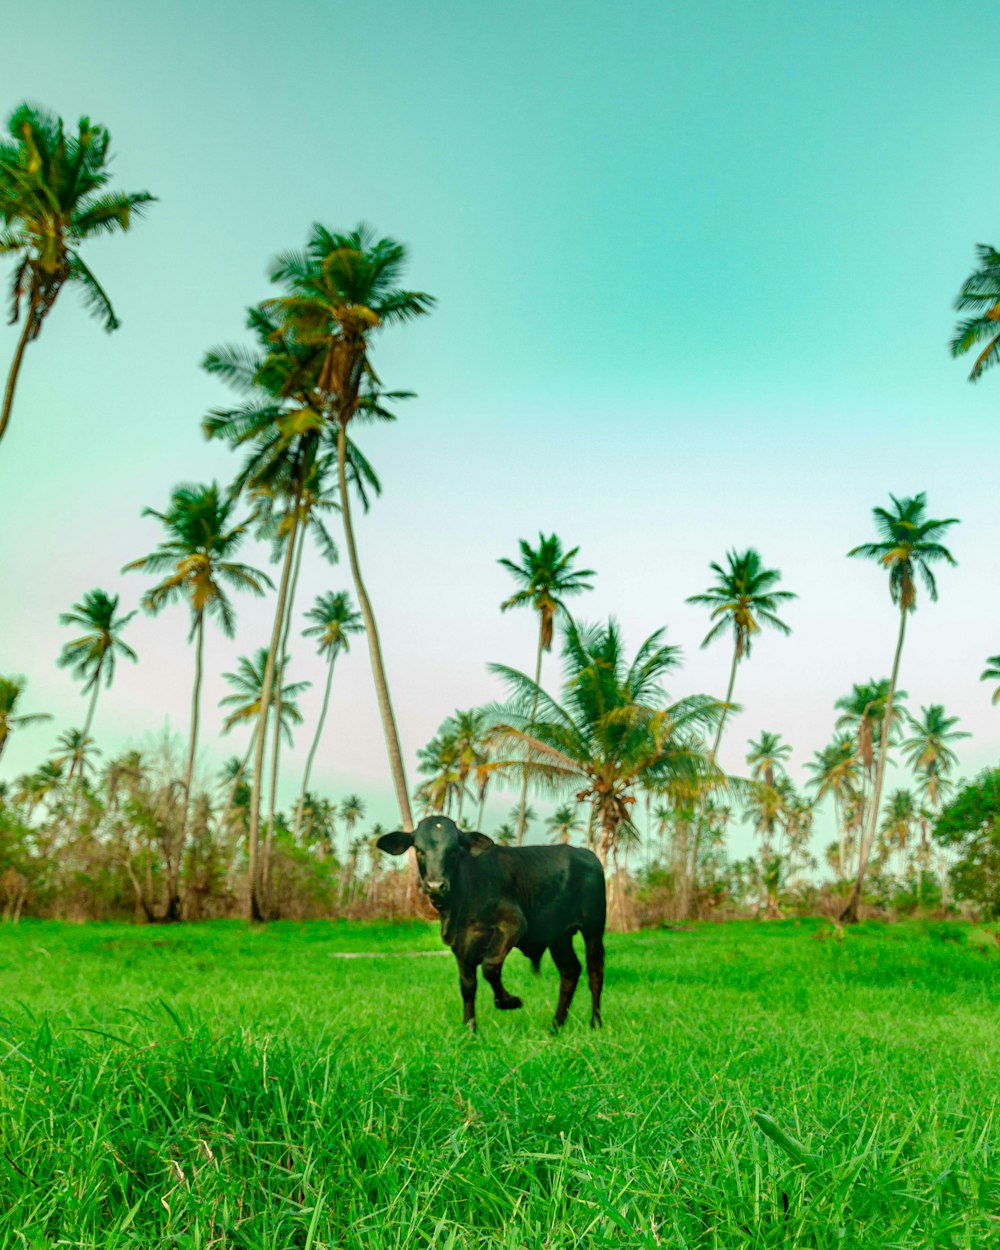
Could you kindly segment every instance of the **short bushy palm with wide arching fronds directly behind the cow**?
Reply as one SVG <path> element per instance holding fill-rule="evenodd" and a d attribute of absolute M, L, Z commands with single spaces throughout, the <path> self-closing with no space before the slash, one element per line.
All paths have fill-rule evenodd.
<path fill-rule="evenodd" d="M 572 786 L 578 801 L 590 800 L 604 865 L 622 829 L 631 831 L 640 786 L 676 776 L 724 780 L 699 738 L 716 726 L 722 705 L 708 695 L 668 699 L 661 680 L 678 666 L 679 649 L 662 635 L 651 634 L 629 664 L 614 620 L 590 628 L 569 621 L 561 702 L 516 669 L 490 665 L 510 689 L 509 701 L 492 709 L 499 768 L 515 778 L 530 771 L 556 794 Z"/>

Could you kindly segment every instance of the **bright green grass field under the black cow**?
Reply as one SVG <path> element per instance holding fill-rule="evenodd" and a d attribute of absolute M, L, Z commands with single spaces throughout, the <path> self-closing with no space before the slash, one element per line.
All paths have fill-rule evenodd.
<path fill-rule="evenodd" d="M 0 929 L 0 1246 L 1000 1246 L 992 934 L 610 935 L 556 1038 L 548 958 L 478 1036 L 450 955 L 334 958 L 439 949 Z"/>

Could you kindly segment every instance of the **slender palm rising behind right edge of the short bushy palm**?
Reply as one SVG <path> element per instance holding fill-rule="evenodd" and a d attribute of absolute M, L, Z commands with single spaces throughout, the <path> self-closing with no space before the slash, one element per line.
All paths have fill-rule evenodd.
<path fill-rule="evenodd" d="M 778 616 L 778 611 L 782 604 L 796 596 L 790 590 L 775 589 L 781 580 L 781 574 L 778 569 L 765 569 L 760 555 L 752 548 L 741 552 L 735 550 L 726 552 L 725 569 L 715 562 L 709 568 L 715 574 L 715 585 L 704 594 L 691 595 L 688 599 L 689 604 L 701 604 L 711 609 L 711 620 L 715 624 L 705 635 L 701 642 L 702 648 L 709 646 L 730 629 L 732 630 L 732 668 L 729 672 L 729 689 L 710 752 L 714 764 L 719 755 L 726 715 L 732 702 L 736 666 L 744 656 L 750 659 L 754 635 L 759 634 L 762 626 L 769 625 L 785 635 L 791 632 L 791 629 Z"/>

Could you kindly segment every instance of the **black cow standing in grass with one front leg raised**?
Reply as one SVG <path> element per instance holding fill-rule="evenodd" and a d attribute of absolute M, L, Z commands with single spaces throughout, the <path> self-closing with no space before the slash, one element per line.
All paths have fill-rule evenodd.
<path fill-rule="evenodd" d="M 426 816 L 412 834 L 385 834 L 381 850 L 402 855 L 416 848 L 420 889 L 441 916 L 441 939 L 459 961 L 465 1024 L 476 1026 L 476 968 L 482 965 L 501 1011 L 522 1006 L 500 980 L 504 960 L 516 946 L 539 970 L 552 952 L 559 969 L 554 1028 L 566 1019 L 580 960 L 572 935 L 586 945 L 590 1026 L 601 1022 L 604 985 L 604 870 L 576 846 L 498 846 L 485 834 L 462 832 L 448 816 Z"/>

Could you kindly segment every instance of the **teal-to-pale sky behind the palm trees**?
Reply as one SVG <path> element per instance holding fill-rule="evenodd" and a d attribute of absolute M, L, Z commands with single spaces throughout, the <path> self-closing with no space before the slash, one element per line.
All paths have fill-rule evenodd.
<path fill-rule="evenodd" d="M 765 728 L 795 744 L 796 772 L 834 699 L 890 666 L 884 578 L 844 559 L 890 490 L 962 520 L 901 684 L 975 732 L 966 769 L 995 760 L 978 678 L 1000 650 L 1000 375 L 968 385 L 946 344 L 974 245 L 1000 242 L 1000 170 L 971 109 L 1000 11 L 220 0 L 95 20 L 39 0 L 31 24 L 58 39 L 8 59 L 0 106 L 90 114 L 118 182 L 161 202 L 89 254 L 122 329 L 105 336 L 62 295 L 0 448 L 0 671 L 56 716 L 14 740 L 4 776 L 82 720 L 54 666 L 59 611 L 95 585 L 135 604 L 145 584 L 119 569 L 158 540 L 141 508 L 235 468 L 199 431 L 225 395 L 205 349 L 239 338 L 269 258 L 311 221 L 361 219 L 409 242 L 412 285 L 440 301 L 379 344 L 386 381 L 420 398 L 365 435 L 385 495 L 362 560 L 411 778 L 448 712 L 498 692 L 486 661 L 530 664 L 534 621 L 498 612 L 495 560 L 540 528 L 599 571 L 584 619 L 615 612 L 632 646 L 669 626 L 678 692 L 725 684 L 724 646 L 699 651 L 705 621 L 684 604 L 709 561 L 755 545 L 779 566 L 794 635 L 741 670 L 724 761 Z M 0 328 L 4 368 L 12 345 Z M 301 606 L 348 581 L 314 558 Z M 268 616 L 242 605 L 210 666 L 261 645 Z M 99 710 L 105 751 L 186 729 L 184 638 L 180 610 L 135 622 L 141 664 Z M 302 649 L 296 676 L 321 680 Z M 240 746 L 215 740 L 222 692 L 212 676 L 206 768 Z M 331 794 L 392 819 L 364 646 L 320 758 Z"/>

